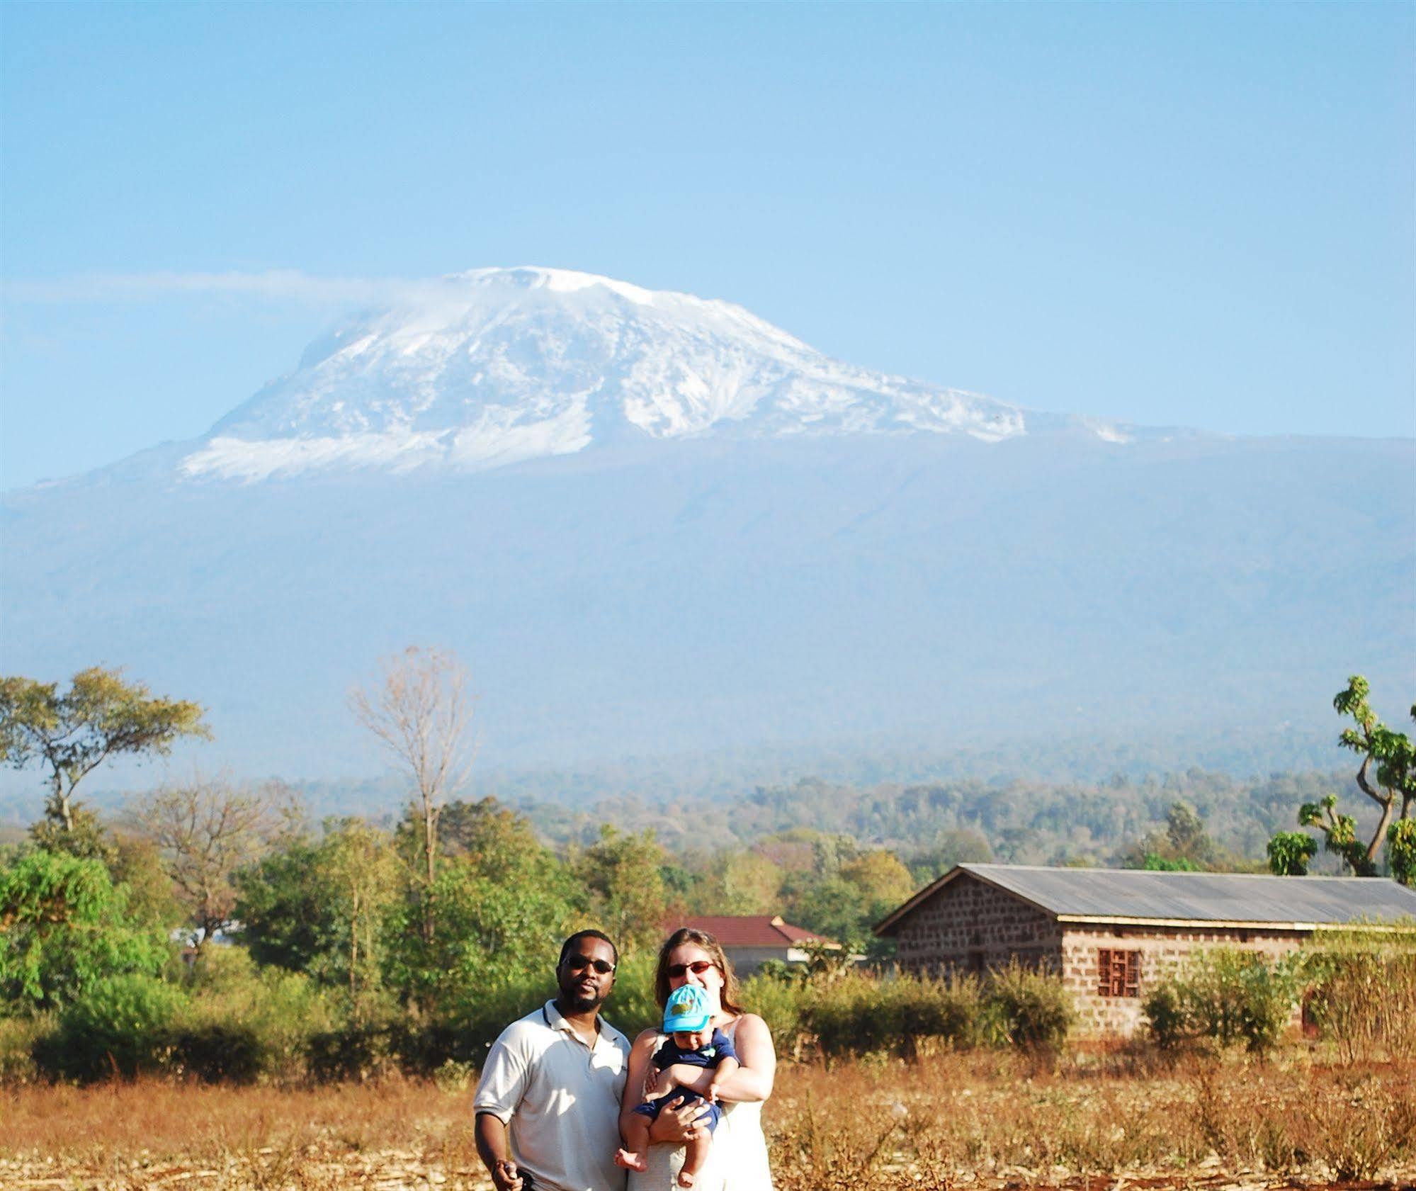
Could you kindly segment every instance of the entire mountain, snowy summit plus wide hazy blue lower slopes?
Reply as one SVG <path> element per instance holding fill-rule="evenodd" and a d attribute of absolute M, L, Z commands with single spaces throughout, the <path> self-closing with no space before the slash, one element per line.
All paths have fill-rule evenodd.
<path fill-rule="evenodd" d="M 1035 414 L 549 269 L 355 319 L 0 541 L 0 673 L 126 666 L 238 773 L 375 770 L 347 694 L 411 643 L 491 765 L 1184 728 L 1287 768 L 1348 674 L 1416 674 L 1410 440 Z"/>

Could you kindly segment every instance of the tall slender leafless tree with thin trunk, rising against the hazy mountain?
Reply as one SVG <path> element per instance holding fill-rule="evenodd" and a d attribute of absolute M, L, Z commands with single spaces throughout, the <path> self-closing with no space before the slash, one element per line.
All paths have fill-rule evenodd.
<path fill-rule="evenodd" d="M 371 690 L 350 694 L 350 708 L 412 777 L 423 836 L 423 939 L 432 942 L 438 819 L 467 780 L 474 752 L 467 671 L 452 650 L 409 646 L 384 660 Z"/>

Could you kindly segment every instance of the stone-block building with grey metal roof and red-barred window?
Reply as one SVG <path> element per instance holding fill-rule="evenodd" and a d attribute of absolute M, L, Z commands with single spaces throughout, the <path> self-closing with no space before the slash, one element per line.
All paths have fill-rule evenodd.
<path fill-rule="evenodd" d="M 1129 1034 L 1147 986 L 1205 947 L 1279 956 L 1315 930 L 1416 929 L 1416 889 L 1359 877 L 960 864 L 879 925 L 906 971 L 1059 971 L 1085 1034 Z"/>

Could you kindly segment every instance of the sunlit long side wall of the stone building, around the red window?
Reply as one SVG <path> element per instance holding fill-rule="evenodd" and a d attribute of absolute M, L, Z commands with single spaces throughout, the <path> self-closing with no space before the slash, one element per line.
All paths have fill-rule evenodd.
<path fill-rule="evenodd" d="M 1141 1024 L 1141 1001 L 1157 980 L 1175 971 L 1185 957 L 1209 947 L 1287 954 L 1307 938 L 1301 930 L 1189 929 L 1180 926 L 1073 926 L 1062 933 L 1062 980 L 1078 1010 L 1076 1034 L 1127 1035 Z M 1140 952 L 1138 996 L 1100 996 L 1099 952 Z M 1298 1022 L 1294 1015 L 1294 1025 Z"/>

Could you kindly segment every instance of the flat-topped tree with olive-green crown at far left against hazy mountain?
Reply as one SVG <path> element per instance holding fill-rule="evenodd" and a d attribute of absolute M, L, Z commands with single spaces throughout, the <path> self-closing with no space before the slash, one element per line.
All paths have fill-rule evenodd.
<path fill-rule="evenodd" d="M 45 816 L 74 830 L 74 787 L 110 756 L 166 756 L 180 736 L 210 736 L 202 708 L 154 697 L 120 670 L 81 670 L 59 694 L 58 683 L 0 678 L 0 762 L 42 765 L 50 794 Z"/>

